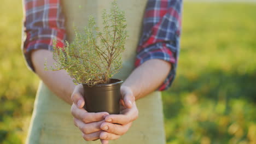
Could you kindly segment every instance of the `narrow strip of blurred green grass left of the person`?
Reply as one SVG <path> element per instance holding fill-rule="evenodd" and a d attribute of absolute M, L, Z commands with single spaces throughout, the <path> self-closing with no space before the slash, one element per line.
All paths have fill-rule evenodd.
<path fill-rule="evenodd" d="M 0 19 L 0 143 L 22 143 L 39 79 L 21 55 L 21 1 L 1 1 Z"/>

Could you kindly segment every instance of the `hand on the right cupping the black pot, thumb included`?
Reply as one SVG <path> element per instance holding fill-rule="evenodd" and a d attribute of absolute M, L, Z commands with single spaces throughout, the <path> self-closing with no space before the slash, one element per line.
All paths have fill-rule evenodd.
<path fill-rule="evenodd" d="M 101 129 L 104 130 L 100 134 L 101 140 L 118 139 L 129 130 L 132 122 L 138 117 L 138 109 L 131 89 L 122 86 L 121 95 L 120 114 L 106 116 L 106 122 L 103 122 L 100 126 Z M 108 141 L 103 141 L 102 143 L 106 144 Z"/>

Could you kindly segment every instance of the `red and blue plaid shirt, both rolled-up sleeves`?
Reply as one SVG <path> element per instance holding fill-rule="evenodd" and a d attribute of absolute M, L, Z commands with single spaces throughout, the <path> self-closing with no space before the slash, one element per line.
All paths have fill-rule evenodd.
<path fill-rule="evenodd" d="M 22 49 L 28 66 L 34 70 L 31 51 L 52 50 L 53 40 L 64 46 L 66 40 L 65 16 L 60 0 L 24 0 L 24 43 Z M 170 87 L 176 75 L 181 33 L 182 0 L 148 0 L 143 18 L 143 31 L 137 48 L 135 66 L 149 59 L 163 59 L 172 64 L 172 70 L 159 87 Z"/>

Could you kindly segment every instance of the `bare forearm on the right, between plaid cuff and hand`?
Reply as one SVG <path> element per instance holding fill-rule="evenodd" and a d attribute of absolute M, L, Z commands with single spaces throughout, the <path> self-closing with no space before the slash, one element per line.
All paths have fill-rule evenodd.
<path fill-rule="evenodd" d="M 135 99 L 155 91 L 166 79 L 171 64 L 161 59 L 150 59 L 132 71 L 123 86 L 131 88 Z"/>

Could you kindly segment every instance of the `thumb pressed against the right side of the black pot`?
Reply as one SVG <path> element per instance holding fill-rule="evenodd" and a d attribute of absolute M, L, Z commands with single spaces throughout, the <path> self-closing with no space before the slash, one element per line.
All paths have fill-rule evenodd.
<path fill-rule="evenodd" d="M 131 108 L 135 101 L 134 95 L 129 87 L 121 87 L 121 95 L 127 108 Z"/>

